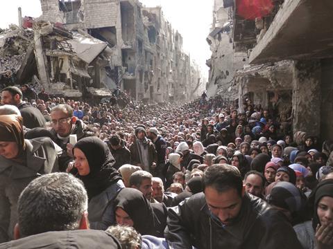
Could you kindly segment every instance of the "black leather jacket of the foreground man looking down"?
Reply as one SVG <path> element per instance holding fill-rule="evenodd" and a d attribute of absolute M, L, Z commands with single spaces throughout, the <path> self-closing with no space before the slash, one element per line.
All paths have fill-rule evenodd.
<path fill-rule="evenodd" d="M 165 238 L 174 249 L 302 248 L 285 216 L 250 194 L 232 225 L 223 225 L 210 214 L 205 194 L 198 193 L 169 208 Z"/>

